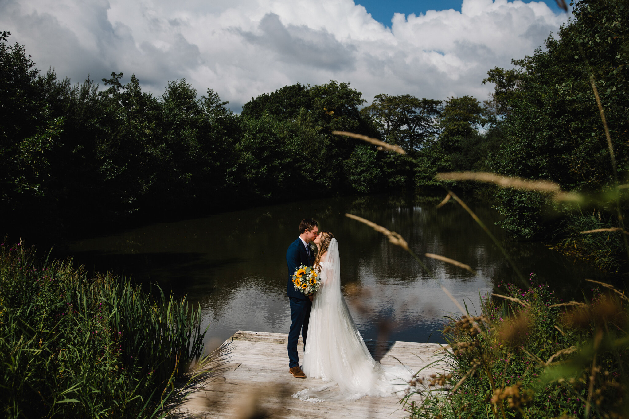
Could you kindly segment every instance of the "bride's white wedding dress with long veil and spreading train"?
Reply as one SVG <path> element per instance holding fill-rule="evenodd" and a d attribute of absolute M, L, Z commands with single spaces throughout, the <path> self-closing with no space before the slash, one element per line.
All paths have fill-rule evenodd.
<path fill-rule="evenodd" d="M 331 239 L 321 263 L 320 281 L 310 310 L 302 369 L 306 376 L 327 383 L 293 397 L 323 401 L 401 395 L 413 373 L 402 366 L 382 366 L 370 355 L 341 293 L 337 239 Z"/>

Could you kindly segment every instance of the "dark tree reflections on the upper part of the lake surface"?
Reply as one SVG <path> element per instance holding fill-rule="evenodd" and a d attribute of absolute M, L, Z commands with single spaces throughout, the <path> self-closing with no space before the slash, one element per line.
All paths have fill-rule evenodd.
<path fill-rule="evenodd" d="M 386 237 L 347 219 L 344 214 L 350 212 L 399 232 L 416 254 L 442 254 L 469 264 L 494 287 L 501 281 L 515 281 L 513 269 L 498 248 L 459 205 L 448 203 L 436 209 L 441 199 L 372 195 L 253 208 L 92 239 L 79 244 L 77 250 L 84 253 L 75 254 L 79 262 L 81 256 L 89 256 L 92 262 L 100 260 L 101 266 L 114 258 L 120 270 L 138 280 L 187 293 L 211 312 L 221 313 L 225 302 L 245 288 L 259 286 L 283 297 L 286 248 L 298 236 L 299 220 L 315 217 L 320 229 L 332 231 L 339 241 L 343 284 L 360 281 L 364 271 L 376 281 L 389 281 L 387 286 L 397 286 L 390 285 L 391 280 L 399 286 L 429 280 L 420 266 Z M 469 205 L 526 275 L 535 271 L 543 280 L 555 281 L 560 292 L 568 293 L 591 273 L 542 244 L 508 241 L 494 226 L 498 216 L 491 208 L 474 202 Z M 478 276 L 433 259 L 426 264 L 457 286 L 474 286 L 477 296 Z"/>

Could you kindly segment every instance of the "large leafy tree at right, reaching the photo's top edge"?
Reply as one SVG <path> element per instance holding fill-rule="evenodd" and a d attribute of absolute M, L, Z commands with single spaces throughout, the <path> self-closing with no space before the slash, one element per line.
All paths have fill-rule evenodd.
<path fill-rule="evenodd" d="M 627 7 L 623 0 L 576 3 L 574 20 L 560 29 L 557 38 L 549 36 L 545 48 L 515 60 L 515 70 L 490 70 L 486 81 L 496 83 L 494 108 L 504 116 L 495 122 L 503 139 L 489 156 L 491 171 L 553 180 L 565 190 L 598 193 L 609 188 L 613 171 L 589 80 L 593 75 L 618 170 L 621 178 L 626 177 Z M 518 199 L 508 195 L 502 194 L 504 204 L 499 205 L 506 229 L 525 238 L 548 234 L 551 226 L 544 220 L 543 205 L 535 210 L 521 201 L 525 207 L 520 207 L 514 202 Z M 537 212 L 537 216 L 520 217 L 525 212 Z"/>

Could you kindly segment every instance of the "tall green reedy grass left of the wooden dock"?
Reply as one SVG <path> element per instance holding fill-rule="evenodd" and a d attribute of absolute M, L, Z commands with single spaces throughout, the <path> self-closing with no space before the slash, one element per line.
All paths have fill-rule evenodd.
<path fill-rule="evenodd" d="M 205 331 L 199 308 L 153 291 L 0 246 L 1 416 L 164 416 Z"/>

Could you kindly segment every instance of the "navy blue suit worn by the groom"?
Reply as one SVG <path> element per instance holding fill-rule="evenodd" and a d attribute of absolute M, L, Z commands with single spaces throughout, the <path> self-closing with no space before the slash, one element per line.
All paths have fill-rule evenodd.
<path fill-rule="evenodd" d="M 306 335 L 308 334 L 308 320 L 310 319 L 310 307 L 312 303 L 308 296 L 302 294 L 295 289 L 292 283 L 292 274 L 295 273 L 300 264 L 312 266 L 315 253 L 310 250 L 310 255 L 306 251 L 304 243 L 297 238 L 288 246 L 286 251 L 286 264 L 288 265 L 288 284 L 286 287 L 286 295 L 291 304 L 291 331 L 288 334 L 288 358 L 289 367 L 299 365 L 299 355 L 297 354 L 297 342 L 299 341 L 299 332 L 306 347 Z"/>

